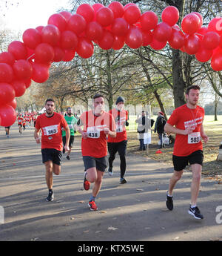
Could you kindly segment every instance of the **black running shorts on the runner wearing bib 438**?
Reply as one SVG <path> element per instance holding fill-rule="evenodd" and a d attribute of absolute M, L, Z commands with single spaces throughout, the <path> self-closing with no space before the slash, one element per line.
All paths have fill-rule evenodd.
<path fill-rule="evenodd" d="M 107 156 L 96 158 L 96 157 L 82 157 L 84 161 L 85 170 L 95 167 L 98 171 L 106 171 L 107 169 Z"/>

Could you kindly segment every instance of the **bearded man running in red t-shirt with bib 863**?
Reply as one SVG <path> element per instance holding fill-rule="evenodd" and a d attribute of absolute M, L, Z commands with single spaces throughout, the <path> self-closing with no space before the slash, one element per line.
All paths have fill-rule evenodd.
<path fill-rule="evenodd" d="M 37 143 L 40 143 L 39 131 L 41 129 L 41 155 L 42 163 L 46 169 L 46 182 L 49 189 L 47 201 L 53 201 L 53 173 L 59 175 L 61 171 L 61 128 L 66 131 L 65 150 L 69 150 L 70 128 L 67 125 L 64 116 L 54 112 L 55 103 L 53 99 L 47 99 L 45 102 L 46 113 L 41 114 L 36 119 L 36 128 L 34 137 Z"/>

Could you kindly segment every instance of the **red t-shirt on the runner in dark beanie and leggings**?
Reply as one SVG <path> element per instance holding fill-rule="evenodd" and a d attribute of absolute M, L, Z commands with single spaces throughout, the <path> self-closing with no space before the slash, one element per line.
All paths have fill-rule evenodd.
<path fill-rule="evenodd" d="M 110 111 L 110 114 L 112 114 L 115 119 L 116 137 L 112 138 L 108 136 L 108 142 L 121 142 L 123 140 L 127 140 L 125 123 L 128 120 L 128 112 L 125 110 L 118 111 L 116 108 L 113 108 Z"/>

